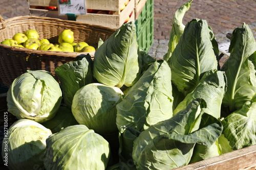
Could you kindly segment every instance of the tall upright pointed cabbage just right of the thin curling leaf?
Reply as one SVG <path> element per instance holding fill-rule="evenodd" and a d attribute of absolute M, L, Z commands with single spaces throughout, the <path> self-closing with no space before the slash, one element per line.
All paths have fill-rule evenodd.
<path fill-rule="evenodd" d="M 184 95 L 196 88 L 204 72 L 218 69 L 218 49 L 212 36 L 206 20 L 191 20 L 168 60 L 172 81 Z"/>

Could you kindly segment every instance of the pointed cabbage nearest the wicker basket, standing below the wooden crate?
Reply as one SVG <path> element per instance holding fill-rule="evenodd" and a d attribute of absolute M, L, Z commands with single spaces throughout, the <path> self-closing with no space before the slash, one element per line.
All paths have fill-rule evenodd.
<path fill-rule="evenodd" d="M 142 61 L 135 23 L 124 23 L 98 48 L 94 55 L 93 75 L 99 83 L 130 87 L 141 75 Z"/>

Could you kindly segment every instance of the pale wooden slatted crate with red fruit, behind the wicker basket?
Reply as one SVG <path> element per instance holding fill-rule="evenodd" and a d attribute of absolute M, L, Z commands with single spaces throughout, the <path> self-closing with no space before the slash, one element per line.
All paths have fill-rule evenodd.
<path fill-rule="evenodd" d="M 86 8 L 90 10 L 102 10 L 102 11 L 111 11 L 111 14 L 97 14 L 97 13 L 87 13 L 86 15 L 77 15 L 76 21 L 84 22 L 93 25 L 99 25 L 108 27 L 111 29 L 118 29 L 130 16 L 129 21 L 135 20 L 135 0 L 130 0 L 127 6 L 120 11 L 121 6 L 125 3 L 126 0 L 91 0 L 86 1 Z M 146 1 L 146 0 L 143 0 Z M 57 6 L 56 0 L 28 0 L 30 6 L 30 15 L 34 16 L 47 16 L 55 17 L 60 19 L 68 19 L 66 15 L 58 15 L 58 11 L 49 11 L 44 9 L 36 9 L 37 6 Z M 140 5 L 141 6 L 141 5 Z"/>

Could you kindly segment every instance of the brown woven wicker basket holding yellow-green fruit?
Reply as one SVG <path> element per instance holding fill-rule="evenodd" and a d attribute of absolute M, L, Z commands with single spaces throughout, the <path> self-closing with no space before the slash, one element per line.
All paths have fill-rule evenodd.
<path fill-rule="evenodd" d="M 37 30 L 40 39 L 47 38 L 51 43 L 57 43 L 58 35 L 63 30 L 70 29 L 74 32 L 74 42 L 86 41 L 94 47 L 98 46 L 99 38 L 105 41 L 116 31 L 115 29 L 57 18 L 18 16 L 5 20 L 0 15 L 0 42 L 11 39 L 15 33 L 29 29 Z M 80 54 L 87 53 L 30 50 L 0 44 L 0 79 L 5 86 L 9 87 L 13 80 L 24 74 L 27 69 L 44 69 L 55 76 L 56 67 L 73 61 Z M 89 54 L 92 58 L 94 57 L 94 52 Z"/>

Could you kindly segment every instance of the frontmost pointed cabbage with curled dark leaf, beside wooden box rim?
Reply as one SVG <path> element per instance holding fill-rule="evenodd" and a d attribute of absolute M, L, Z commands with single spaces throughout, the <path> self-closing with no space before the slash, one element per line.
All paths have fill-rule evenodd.
<path fill-rule="evenodd" d="M 219 120 L 203 112 L 206 103 L 191 102 L 186 109 L 143 131 L 134 141 L 137 169 L 173 169 L 187 165 L 196 143 L 210 147 L 222 132 Z M 200 126 L 196 127 L 198 123 Z"/>

